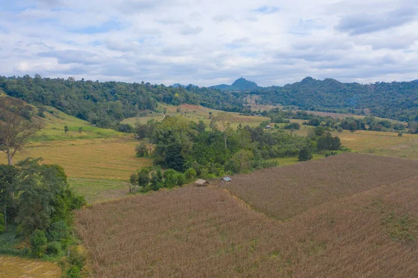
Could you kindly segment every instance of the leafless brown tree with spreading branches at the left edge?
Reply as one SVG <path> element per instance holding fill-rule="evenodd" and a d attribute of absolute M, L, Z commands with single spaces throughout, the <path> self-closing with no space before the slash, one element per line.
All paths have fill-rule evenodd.
<path fill-rule="evenodd" d="M 22 150 L 27 140 L 43 127 L 38 117 L 30 120 L 21 116 L 24 102 L 13 98 L 0 101 L 0 150 L 7 154 L 8 164 L 12 164 L 17 151 Z"/>

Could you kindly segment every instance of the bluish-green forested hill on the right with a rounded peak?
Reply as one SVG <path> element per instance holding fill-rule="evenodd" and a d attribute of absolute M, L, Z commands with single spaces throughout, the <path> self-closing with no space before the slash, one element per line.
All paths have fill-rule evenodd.
<path fill-rule="evenodd" d="M 418 120 L 418 82 L 341 83 L 335 79 L 311 77 L 283 87 L 272 86 L 252 93 L 263 104 L 295 105 L 306 110 L 359 111 L 400 121 Z"/>

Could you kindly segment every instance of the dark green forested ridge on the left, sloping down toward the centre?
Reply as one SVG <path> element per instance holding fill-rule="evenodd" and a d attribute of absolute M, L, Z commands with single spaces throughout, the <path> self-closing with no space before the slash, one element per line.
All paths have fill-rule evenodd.
<path fill-rule="evenodd" d="M 34 105 L 49 105 L 94 123 L 109 127 L 140 110 L 154 110 L 157 102 L 202 105 L 224 111 L 242 111 L 242 100 L 231 93 L 196 86 L 152 85 L 149 83 L 93 82 L 75 79 L 0 77 L 6 94 Z"/>

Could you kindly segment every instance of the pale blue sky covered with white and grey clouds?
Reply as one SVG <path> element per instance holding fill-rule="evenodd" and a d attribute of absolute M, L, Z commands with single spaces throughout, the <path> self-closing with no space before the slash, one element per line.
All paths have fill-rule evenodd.
<path fill-rule="evenodd" d="M 417 30 L 417 0 L 0 0 L 0 75 L 410 81 Z"/>

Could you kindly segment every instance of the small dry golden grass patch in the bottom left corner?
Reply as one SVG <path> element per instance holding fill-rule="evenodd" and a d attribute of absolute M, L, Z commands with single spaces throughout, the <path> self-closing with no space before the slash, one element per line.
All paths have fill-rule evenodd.
<path fill-rule="evenodd" d="M 61 268 L 54 263 L 0 256 L 0 278 L 59 278 Z"/>

